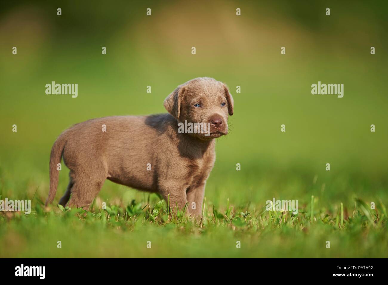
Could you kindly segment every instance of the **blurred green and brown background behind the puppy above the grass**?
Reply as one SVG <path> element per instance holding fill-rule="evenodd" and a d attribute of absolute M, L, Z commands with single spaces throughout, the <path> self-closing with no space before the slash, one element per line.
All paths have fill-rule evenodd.
<path fill-rule="evenodd" d="M 231 134 L 217 142 L 209 206 L 224 207 L 229 198 L 262 207 L 276 197 L 301 207 L 311 195 L 328 209 L 344 202 L 353 211 L 355 197 L 387 204 L 387 7 L 386 1 L 2 3 L 0 193 L 32 199 L 38 189 L 44 201 L 50 149 L 63 130 L 95 117 L 166 112 L 163 100 L 177 85 L 209 76 L 225 82 L 235 101 Z M 78 98 L 46 95 L 52 81 L 78 83 Z M 312 95 L 318 81 L 343 83 L 344 97 Z M 56 201 L 67 175 L 64 167 Z M 99 197 L 119 204 L 144 193 L 106 181 Z"/>

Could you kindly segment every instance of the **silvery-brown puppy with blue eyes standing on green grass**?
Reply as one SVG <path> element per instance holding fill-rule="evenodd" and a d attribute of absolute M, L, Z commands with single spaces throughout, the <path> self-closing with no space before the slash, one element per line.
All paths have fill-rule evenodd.
<path fill-rule="evenodd" d="M 215 162 L 214 138 L 226 135 L 233 114 L 228 88 L 213 78 L 192 79 L 165 99 L 170 114 L 115 116 L 75 124 L 55 141 L 50 155 L 50 192 L 57 192 L 63 156 L 70 182 L 59 204 L 88 209 L 104 181 L 158 192 L 171 208 L 201 214 L 205 183 Z M 210 131 L 182 133 L 178 123 L 210 123 Z"/>

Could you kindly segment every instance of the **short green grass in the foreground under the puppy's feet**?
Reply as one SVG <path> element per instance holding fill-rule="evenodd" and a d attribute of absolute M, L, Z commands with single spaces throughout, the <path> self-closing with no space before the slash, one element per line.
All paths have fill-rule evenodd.
<path fill-rule="evenodd" d="M 244 180 L 239 183 L 248 187 Z M 158 195 L 135 190 L 126 190 L 104 210 L 98 197 L 90 211 L 45 208 L 35 197 L 29 215 L 0 212 L 0 256 L 388 257 L 387 214 L 381 201 L 371 210 L 369 201 L 327 203 L 325 196 L 306 193 L 296 215 L 266 211 L 265 200 L 236 204 L 206 198 L 202 221 L 185 212 L 173 215 Z M 131 200 L 135 197 L 139 200 Z M 62 248 L 57 248 L 58 241 Z"/>

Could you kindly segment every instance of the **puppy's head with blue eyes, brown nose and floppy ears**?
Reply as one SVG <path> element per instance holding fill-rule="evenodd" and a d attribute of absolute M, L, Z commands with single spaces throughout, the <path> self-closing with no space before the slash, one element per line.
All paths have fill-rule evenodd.
<path fill-rule="evenodd" d="M 178 123 L 196 123 L 200 131 L 188 133 L 202 139 L 218 138 L 228 133 L 228 117 L 233 115 L 233 105 L 227 86 L 208 77 L 179 85 L 164 102 L 166 110 Z"/>

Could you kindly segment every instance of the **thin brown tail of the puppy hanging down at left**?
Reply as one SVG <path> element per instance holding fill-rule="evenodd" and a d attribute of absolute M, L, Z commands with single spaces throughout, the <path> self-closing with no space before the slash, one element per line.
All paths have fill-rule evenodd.
<path fill-rule="evenodd" d="M 58 188 L 58 178 L 59 171 L 57 170 L 57 164 L 61 163 L 63 149 L 65 147 L 66 140 L 63 135 L 60 135 L 57 140 L 54 142 L 54 145 L 51 149 L 50 154 L 50 191 L 49 197 L 47 197 L 46 204 L 47 206 L 49 202 L 52 202 L 55 198 L 55 194 L 57 193 Z"/>

